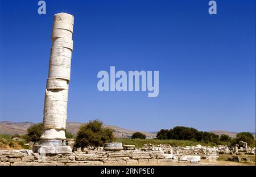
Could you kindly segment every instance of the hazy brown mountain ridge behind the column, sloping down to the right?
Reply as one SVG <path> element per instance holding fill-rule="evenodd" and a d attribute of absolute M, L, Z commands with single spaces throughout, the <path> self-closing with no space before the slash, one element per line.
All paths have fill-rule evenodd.
<path fill-rule="evenodd" d="M 0 122 L 0 134 L 15 134 L 18 133 L 20 135 L 27 133 L 27 128 L 31 127 L 35 123 L 31 122 L 22 122 L 22 123 L 13 123 L 10 121 L 1 121 Z M 67 130 L 73 134 L 76 134 L 79 130 L 79 127 L 84 123 L 67 123 Z M 124 128 L 120 128 L 114 125 L 104 125 L 105 128 L 113 129 L 114 136 L 116 138 L 127 138 L 131 137 L 134 132 L 141 132 L 145 134 L 148 138 L 155 138 L 156 133 L 128 130 Z"/>

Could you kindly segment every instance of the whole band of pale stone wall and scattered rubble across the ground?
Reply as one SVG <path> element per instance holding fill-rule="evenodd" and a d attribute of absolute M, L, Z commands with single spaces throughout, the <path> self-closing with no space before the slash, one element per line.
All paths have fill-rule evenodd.
<path fill-rule="evenodd" d="M 0 150 L 0 166 L 84 166 L 84 165 L 168 165 L 172 163 L 200 163 L 201 159 L 216 160 L 218 154 L 233 154 L 228 161 L 250 161 L 249 158 L 239 157 L 242 154 L 255 154 L 255 147 L 236 148 L 227 146 L 205 147 L 144 145 L 135 149 L 134 145 L 122 145 L 124 150 L 112 151 L 98 147 L 96 150 L 85 149 L 71 154 L 38 154 L 32 150 Z"/>

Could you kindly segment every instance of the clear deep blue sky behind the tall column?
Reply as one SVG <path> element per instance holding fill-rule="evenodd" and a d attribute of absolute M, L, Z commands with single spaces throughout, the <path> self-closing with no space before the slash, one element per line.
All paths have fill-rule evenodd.
<path fill-rule="evenodd" d="M 53 15 L 75 16 L 68 121 L 255 132 L 255 1 L 0 1 L 0 120 L 43 120 Z M 159 96 L 97 73 L 159 70 Z"/>

